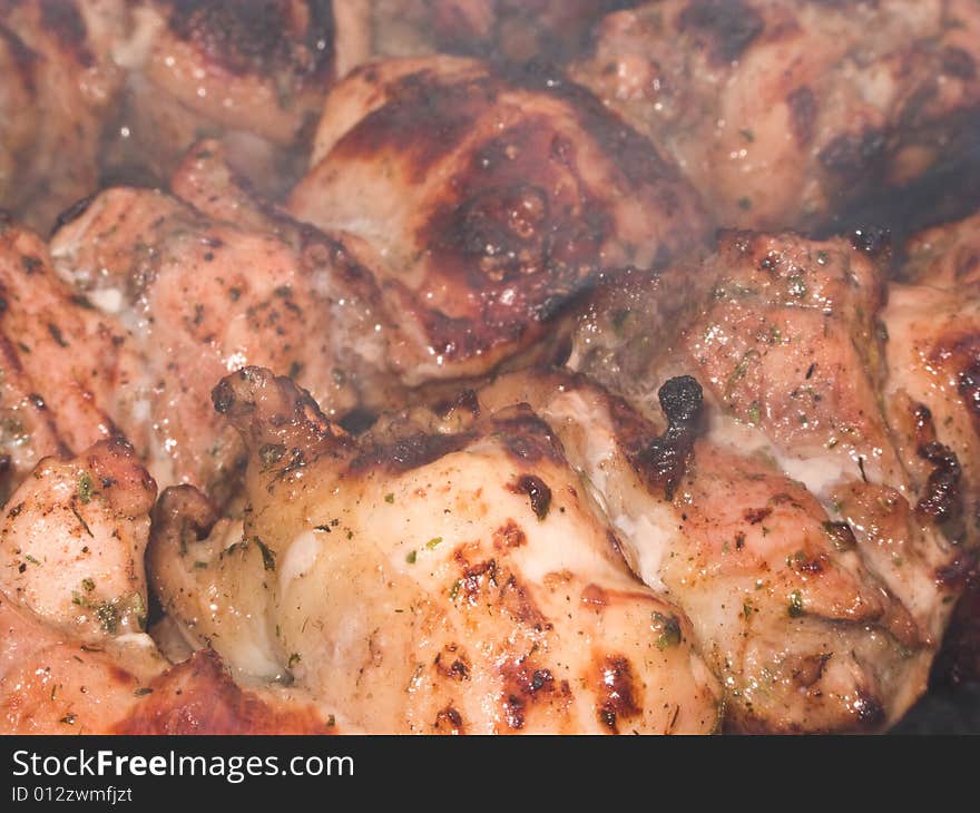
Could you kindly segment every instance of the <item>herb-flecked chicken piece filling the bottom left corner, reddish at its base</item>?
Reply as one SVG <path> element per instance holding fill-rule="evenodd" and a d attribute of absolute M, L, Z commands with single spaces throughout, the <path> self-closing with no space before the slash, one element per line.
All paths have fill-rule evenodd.
<path fill-rule="evenodd" d="M 0 520 L 0 733 L 313 733 L 296 693 L 248 692 L 214 653 L 171 667 L 144 633 L 156 484 L 129 447 L 46 458 Z"/>

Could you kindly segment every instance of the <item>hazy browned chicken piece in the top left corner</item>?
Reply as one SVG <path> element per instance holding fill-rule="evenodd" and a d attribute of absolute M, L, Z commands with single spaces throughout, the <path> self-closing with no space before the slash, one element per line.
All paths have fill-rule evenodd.
<path fill-rule="evenodd" d="M 0 207 L 47 232 L 98 179 L 118 0 L 0 2 Z"/>

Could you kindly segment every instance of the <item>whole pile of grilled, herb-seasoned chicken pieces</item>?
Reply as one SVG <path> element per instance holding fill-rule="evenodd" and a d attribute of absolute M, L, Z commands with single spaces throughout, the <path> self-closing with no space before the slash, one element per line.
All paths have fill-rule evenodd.
<path fill-rule="evenodd" d="M 971 3 L 248 6 L 0 2 L 0 728 L 895 723 L 980 215 L 804 235 L 976 136 Z"/>

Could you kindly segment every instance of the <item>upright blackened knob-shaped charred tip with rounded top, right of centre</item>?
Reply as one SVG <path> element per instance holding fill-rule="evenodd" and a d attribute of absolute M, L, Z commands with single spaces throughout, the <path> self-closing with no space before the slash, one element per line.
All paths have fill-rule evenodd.
<path fill-rule="evenodd" d="M 627 456 L 647 488 L 663 488 L 664 496 L 670 500 L 702 431 L 704 393 L 695 379 L 682 375 L 666 381 L 657 394 L 668 421 L 667 431 L 641 449 L 628 451 Z"/>

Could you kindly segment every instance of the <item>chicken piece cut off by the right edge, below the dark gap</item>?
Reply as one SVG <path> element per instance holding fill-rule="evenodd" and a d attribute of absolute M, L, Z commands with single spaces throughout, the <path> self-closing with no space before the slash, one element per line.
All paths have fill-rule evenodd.
<path fill-rule="evenodd" d="M 942 572 L 967 582 L 948 635 L 947 669 L 980 677 L 980 215 L 930 229 L 908 247 L 889 288 L 885 403 L 923 505 L 962 543 Z M 972 579 L 972 584 L 971 584 Z"/>

